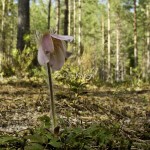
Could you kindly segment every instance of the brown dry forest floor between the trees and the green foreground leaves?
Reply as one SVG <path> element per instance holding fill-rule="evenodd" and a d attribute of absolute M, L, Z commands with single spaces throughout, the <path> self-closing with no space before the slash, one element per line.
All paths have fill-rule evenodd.
<path fill-rule="evenodd" d="M 58 122 L 67 126 L 119 124 L 120 132 L 137 145 L 150 147 L 150 87 L 86 88 L 73 92 L 55 85 Z M 30 82 L 0 84 L 0 132 L 19 132 L 36 126 L 49 115 L 46 85 Z"/>

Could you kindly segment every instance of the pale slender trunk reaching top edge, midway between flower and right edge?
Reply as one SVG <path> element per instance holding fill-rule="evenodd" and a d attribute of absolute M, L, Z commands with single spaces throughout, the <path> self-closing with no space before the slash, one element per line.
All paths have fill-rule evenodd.
<path fill-rule="evenodd" d="M 108 66 L 107 66 L 107 81 L 111 79 L 111 71 L 110 71 L 110 0 L 108 0 Z"/>

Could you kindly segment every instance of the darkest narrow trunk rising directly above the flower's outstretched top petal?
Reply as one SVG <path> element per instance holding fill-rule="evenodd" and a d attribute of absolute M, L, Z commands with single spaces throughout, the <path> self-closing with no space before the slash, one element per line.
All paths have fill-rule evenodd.
<path fill-rule="evenodd" d="M 68 10 L 68 0 L 65 0 L 65 18 L 64 18 L 64 35 L 68 35 L 68 15 L 69 15 L 69 10 Z"/>

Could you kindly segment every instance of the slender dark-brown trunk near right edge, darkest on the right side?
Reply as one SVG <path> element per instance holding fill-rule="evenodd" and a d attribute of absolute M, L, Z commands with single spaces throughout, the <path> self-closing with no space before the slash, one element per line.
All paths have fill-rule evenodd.
<path fill-rule="evenodd" d="M 138 66 L 138 49 L 137 49 L 137 14 L 136 0 L 134 0 L 134 68 Z"/>

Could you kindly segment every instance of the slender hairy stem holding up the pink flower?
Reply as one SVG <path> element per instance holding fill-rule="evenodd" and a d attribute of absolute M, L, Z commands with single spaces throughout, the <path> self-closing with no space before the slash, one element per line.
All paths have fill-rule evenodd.
<path fill-rule="evenodd" d="M 55 115 L 55 103 L 54 103 L 54 96 L 53 96 L 51 68 L 49 62 L 47 63 L 47 73 L 48 73 L 48 84 L 49 84 L 49 92 L 50 92 L 50 118 L 52 123 L 52 131 L 54 131 L 56 127 L 56 115 Z"/>

